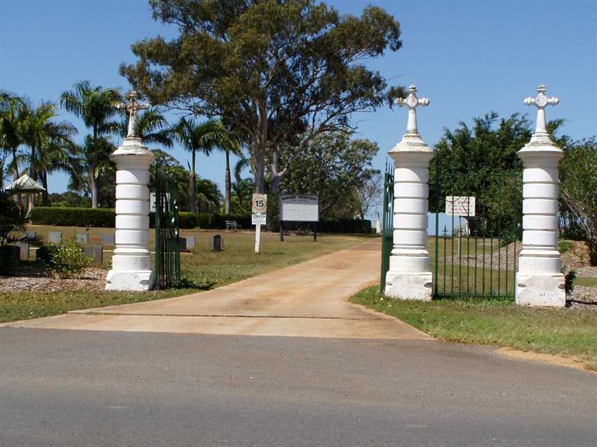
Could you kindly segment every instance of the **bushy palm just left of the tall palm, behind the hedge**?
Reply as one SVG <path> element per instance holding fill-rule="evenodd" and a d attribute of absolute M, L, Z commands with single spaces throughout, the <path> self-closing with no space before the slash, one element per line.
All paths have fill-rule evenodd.
<path fill-rule="evenodd" d="M 29 166 L 29 175 L 34 180 L 41 179 L 46 190 L 42 193 L 45 206 L 48 199 L 48 173 L 65 170 L 75 174 L 77 146 L 72 140 L 77 128 L 66 121 L 56 123 L 56 107 L 53 103 L 42 102 L 30 110 L 23 121 L 23 143 L 29 148 L 22 159 Z"/>

